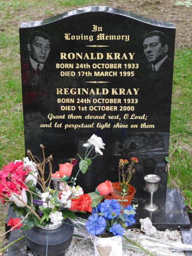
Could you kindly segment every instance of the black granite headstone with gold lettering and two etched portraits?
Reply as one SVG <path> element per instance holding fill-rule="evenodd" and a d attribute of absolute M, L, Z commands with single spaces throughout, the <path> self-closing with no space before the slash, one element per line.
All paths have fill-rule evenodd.
<path fill-rule="evenodd" d="M 174 40 L 172 23 L 105 6 L 22 23 L 26 150 L 40 157 L 44 144 L 55 172 L 96 134 L 106 146 L 78 176 L 85 192 L 117 181 L 118 160 L 134 156 L 136 197 L 149 196 L 143 177 L 152 172 L 161 177 L 154 197 L 166 198 Z M 149 171 L 146 159 L 156 163 Z"/>

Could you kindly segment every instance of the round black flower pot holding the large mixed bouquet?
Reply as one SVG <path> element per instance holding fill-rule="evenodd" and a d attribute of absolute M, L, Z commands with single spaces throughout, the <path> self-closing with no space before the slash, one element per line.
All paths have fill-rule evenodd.
<path fill-rule="evenodd" d="M 27 245 L 35 256 L 46 256 L 46 250 L 47 256 L 64 256 L 64 252 L 71 244 L 74 226 L 67 218 L 60 226 L 49 225 L 49 230 L 35 226 L 24 232 Z"/>

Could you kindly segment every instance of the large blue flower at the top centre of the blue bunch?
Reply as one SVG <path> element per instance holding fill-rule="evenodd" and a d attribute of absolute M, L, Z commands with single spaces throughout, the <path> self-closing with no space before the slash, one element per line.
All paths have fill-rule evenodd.
<path fill-rule="evenodd" d="M 101 203 L 100 211 L 107 219 L 113 219 L 120 214 L 121 206 L 116 199 L 106 199 Z"/>

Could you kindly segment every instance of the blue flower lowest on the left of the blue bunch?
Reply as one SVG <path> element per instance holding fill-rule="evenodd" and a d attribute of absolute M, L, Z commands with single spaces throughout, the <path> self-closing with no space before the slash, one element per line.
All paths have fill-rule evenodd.
<path fill-rule="evenodd" d="M 105 230 L 106 220 L 102 216 L 95 213 L 89 216 L 87 220 L 85 226 L 90 234 L 99 235 Z"/>

